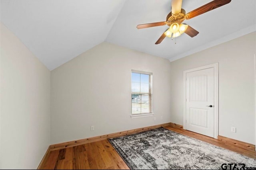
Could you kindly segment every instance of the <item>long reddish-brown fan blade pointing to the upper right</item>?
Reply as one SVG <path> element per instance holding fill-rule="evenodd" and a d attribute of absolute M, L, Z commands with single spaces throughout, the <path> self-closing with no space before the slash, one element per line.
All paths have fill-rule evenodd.
<path fill-rule="evenodd" d="M 186 14 L 186 19 L 191 19 L 194 18 L 196 16 L 199 16 L 201 14 L 204 14 L 205 12 L 208 12 L 210 10 L 214 10 L 215 8 L 218 8 L 220 6 L 226 5 L 229 2 L 231 2 L 231 0 L 214 0 L 212 2 L 209 2 L 208 4 L 205 4 L 199 8 L 196 8 L 195 10 L 188 12 L 188 14 Z"/>

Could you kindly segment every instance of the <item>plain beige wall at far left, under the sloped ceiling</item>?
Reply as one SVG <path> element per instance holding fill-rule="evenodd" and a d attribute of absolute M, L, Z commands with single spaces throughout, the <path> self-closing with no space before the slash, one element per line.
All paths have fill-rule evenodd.
<path fill-rule="evenodd" d="M 2 23 L 1 167 L 36 169 L 50 144 L 50 71 Z"/>

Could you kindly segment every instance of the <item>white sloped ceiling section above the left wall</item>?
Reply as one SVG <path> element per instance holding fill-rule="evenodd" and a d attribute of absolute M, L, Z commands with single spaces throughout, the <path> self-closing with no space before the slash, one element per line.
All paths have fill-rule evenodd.
<path fill-rule="evenodd" d="M 52 70 L 105 41 L 122 0 L 1 0 L 1 22 Z"/>

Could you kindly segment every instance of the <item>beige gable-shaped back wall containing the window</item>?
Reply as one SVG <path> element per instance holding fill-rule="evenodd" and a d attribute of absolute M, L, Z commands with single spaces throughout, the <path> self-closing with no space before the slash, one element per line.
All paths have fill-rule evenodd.
<path fill-rule="evenodd" d="M 153 117 L 130 117 L 132 69 L 153 73 Z M 101 43 L 51 72 L 51 143 L 170 122 L 170 84 L 167 59 Z"/>

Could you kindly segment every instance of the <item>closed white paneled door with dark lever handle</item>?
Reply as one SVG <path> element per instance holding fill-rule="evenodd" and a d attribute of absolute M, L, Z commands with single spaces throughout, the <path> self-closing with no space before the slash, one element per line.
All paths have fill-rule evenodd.
<path fill-rule="evenodd" d="M 214 68 L 186 73 L 186 129 L 214 137 Z"/>

